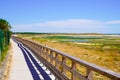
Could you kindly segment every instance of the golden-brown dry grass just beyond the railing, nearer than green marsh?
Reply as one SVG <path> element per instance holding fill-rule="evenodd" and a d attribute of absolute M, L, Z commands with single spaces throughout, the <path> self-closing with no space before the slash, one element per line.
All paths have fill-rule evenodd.
<path fill-rule="evenodd" d="M 82 47 L 74 46 L 71 43 L 53 42 L 53 41 L 38 41 L 46 46 L 55 48 L 66 54 L 70 54 L 79 59 L 88 61 L 90 63 L 102 66 L 104 68 L 113 70 L 120 73 L 120 53 L 110 52 L 110 51 L 95 51 L 90 49 L 85 49 Z"/>

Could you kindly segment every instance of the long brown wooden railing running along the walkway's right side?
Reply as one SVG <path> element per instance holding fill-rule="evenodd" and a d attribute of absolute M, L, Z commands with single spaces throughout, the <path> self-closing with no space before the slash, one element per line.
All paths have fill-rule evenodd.
<path fill-rule="evenodd" d="M 101 68 L 33 41 L 17 37 L 13 38 L 32 50 L 59 80 L 120 80 L 119 73 Z"/>

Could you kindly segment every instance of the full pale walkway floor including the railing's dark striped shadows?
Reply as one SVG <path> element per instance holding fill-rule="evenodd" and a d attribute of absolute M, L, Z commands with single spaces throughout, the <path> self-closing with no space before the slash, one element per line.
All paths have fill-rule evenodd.
<path fill-rule="evenodd" d="M 19 42 L 12 40 L 13 58 L 9 80 L 55 80 L 55 76 Z"/>

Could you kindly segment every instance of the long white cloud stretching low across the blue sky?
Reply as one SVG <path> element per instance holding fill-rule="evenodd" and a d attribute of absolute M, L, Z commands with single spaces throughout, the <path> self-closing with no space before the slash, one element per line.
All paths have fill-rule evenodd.
<path fill-rule="evenodd" d="M 98 27 L 101 22 L 88 19 L 69 19 L 64 21 L 47 21 L 43 23 L 23 24 L 15 26 L 24 27 Z"/>

